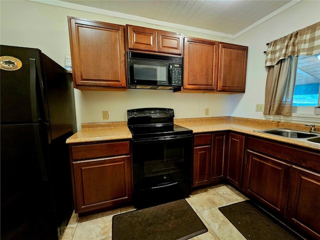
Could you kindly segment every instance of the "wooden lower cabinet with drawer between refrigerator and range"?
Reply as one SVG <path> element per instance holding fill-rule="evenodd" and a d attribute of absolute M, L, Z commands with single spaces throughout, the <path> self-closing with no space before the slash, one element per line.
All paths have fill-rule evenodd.
<path fill-rule="evenodd" d="M 75 213 L 111 209 L 131 201 L 129 141 L 69 147 Z"/>

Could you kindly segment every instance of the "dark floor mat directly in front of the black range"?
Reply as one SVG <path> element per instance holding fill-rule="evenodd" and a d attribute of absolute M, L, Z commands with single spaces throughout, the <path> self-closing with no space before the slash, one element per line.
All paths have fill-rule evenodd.
<path fill-rule="evenodd" d="M 189 239 L 207 228 L 185 199 L 112 217 L 112 240 Z"/>

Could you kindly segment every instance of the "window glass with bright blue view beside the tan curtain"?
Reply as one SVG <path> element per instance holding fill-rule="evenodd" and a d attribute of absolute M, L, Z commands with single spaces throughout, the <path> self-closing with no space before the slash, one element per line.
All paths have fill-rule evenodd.
<path fill-rule="evenodd" d="M 320 105 L 320 54 L 298 58 L 293 106 Z"/>

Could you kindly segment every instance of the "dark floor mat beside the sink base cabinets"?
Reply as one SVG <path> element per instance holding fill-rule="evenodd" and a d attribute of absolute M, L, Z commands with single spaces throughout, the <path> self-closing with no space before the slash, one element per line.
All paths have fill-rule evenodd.
<path fill-rule="evenodd" d="M 249 201 L 242 201 L 219 210 L 228 220 L 250 240 L 297 240 L 289 231 L 263 214 Z"/>

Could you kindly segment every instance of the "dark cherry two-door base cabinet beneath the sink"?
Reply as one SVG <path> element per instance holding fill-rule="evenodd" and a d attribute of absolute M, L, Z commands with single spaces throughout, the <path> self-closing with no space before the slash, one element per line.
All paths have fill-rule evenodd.
<path fill-rule="evenodd" d="M 248 137 L 243 190 L 306 239 L 320 239 L 320 151 Z"/>

